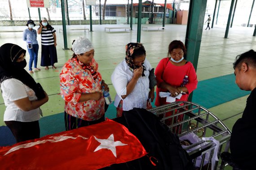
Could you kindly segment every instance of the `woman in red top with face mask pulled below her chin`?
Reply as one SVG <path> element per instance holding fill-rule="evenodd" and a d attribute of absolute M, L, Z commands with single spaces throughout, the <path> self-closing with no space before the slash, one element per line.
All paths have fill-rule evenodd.
<path fill-rule="evenodd" d="M 186 54 L 184 44 L 174 40 L 169 44 L 168 57 L 161 59 L 157 65 L 155 69 L 157 81 L 155 106 L 168 103 L 166 98 L 159 97 L 159 92 L 170 92 L 172 97 L 184 93 L 181 99 L 176 99 L 176 101 L 187 101 L 189 94 L 196 89 L 198 81 L 194 66 L 183 58 L 184 54 Z M 181 87 L 185 76 L 188 76 L 189 81 L 184 87 Z"/>

